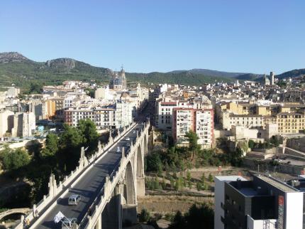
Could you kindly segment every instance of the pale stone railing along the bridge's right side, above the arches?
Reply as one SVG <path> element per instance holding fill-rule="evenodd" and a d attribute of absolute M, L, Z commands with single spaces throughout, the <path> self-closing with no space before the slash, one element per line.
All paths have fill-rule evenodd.
<path fill-rule="evenodd" d="M 145 124 L 143 131 L 139 132 L 141 137 L 143 134 L 145 134 L 146 130 L 149 128 L 149 124 Z M 138 139 L 138 137 L 137 137 Z M 104 192 L 101 194 L 101 192 L 96 196 L 96 199 L 91 205 L 91 214 L 87 213 L 84 215 L 84 218 L 82 222 L 79 224 L 79 229 L 82 228 L 94 228 L 94 224 L 97 222 L 99 215 L 103 211 L 104 207 L 106 206 L 106 203 L 109 199 L 109 196 L 111 196 L 111 193 L 113 192 L 114 188 L 116 187 L 116 184 L 118 183 L 118 180 L 123 174 L 123 170 L 126 168 L 126 165 L 128 161 L 131 159 L 132 150 L 137 150 L 134 148 L 133 142 L 131 143 L 131 147 L 128 149 L 128 151 L 122 151 L 122 157 L 120 163 L 116 166 L 115 169 L 111 172 L 111 175 L 109 177 L 106 177 L 106 181 L 104 184 L 104 187 L 102 188 L 102 191 Z"/>

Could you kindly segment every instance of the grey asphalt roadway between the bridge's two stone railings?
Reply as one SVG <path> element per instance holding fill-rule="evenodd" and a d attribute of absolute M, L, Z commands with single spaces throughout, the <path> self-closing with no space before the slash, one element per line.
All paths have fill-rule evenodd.
<path fill-rule="evenodd" d="M 134 129 L 143 129 L 142 124 L 137 124 L 125 137 L 129 137 L 133 142 L 135 142 L 136 131 Z M 42 222 L 35 228 L 45 229 L 45 228 L 61 228 L 61 223 L 55 224 L 53 222 L 54 216 L 61 211 L 67 218 L 77 218 L 77 223 L 80 223 L 82 218 L 84 218 L 85 213 L 89 211 L 89 206 L 93 203 L 94 198 L 96 198 L 97 193 L 101 191 L 104 186 L 105 177 L 110 176 L 113 169 L 120 163 L 121 152 L 117 153 L 117 147 L 125 147 L 125 151 L 129 150 L 125 137 L 114 144 L 114 147 L 101 159 L 97 159 L 93 168 L 87 171 L 82 179 L 74 185 L 70 191 L 57 200 L 57 204 L 47 215 L 41 215 L 43 217 Z M 77 206 L 68 206 L 67 199 L 72 194 L 79 194 L 82 200 L 77 204 Z"/>

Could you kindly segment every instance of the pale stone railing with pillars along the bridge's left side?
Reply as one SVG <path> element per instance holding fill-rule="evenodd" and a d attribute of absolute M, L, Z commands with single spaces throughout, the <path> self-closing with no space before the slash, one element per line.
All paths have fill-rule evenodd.
<path fill-rule="evenodd" d="M 57 199 L 58 195 L 62 194 L 62 191 L 64 189 L 67 190 L 67 188 L 72 187 L 74 184 L 74 181 L 77 180 L 77 177 L 79 177 L 79 175 L 83 174 L 84 171 L 87 168 L 89 168 L 89 166 L 93 163 L 93 161 L 95 161 L 96 159 L 99 159 L 100 156 L 106 154 L 108 152 L 108 150 L 112 147 L 112 145 L 114 143 L 116 143 L 119 139 L 121 139 L 121 137 L 123 137 L 124 134 L 126 134 L 133 127 L 135 127 L 135 125 L 136 124 L 133 122 L 128 127 L 126 127 L 126 128 L 124 127 L 123 132 L 118 132 L 118 135 L 114 139 L 112 137 L 110 137 L 109 142 L 104 146 L 104 148 L 101 148 L 101 144 L 99 144 L 98 151 L 96 151 L 95 154 L 91 155 L 89 160 L 87 160 L 87 158 L 85 160 L 83 159 L 84 161 L 87 160 L 87 164 L 86 163 L 79 164 L 79 166 L 77 166 L 76 169 L 71 171 L 71 173 L 68 176 L 65 176 L 64 180 L 60 181 L 58 184 L 56 184 L 56 181 L 54 180 L 55 185 L 53 186 L 53 190 L 50 190 L 51 188 L 50 188 L 50 183 L 49 183 L 48 195 L 44 195 L 43 199 L 41 201 L 39 201 L 37 204 L 34 204 L 33 209 L 28 213 L 28 215 L 26 215 L 26 217 L 24 217 L 23 215 L 21 216 L 21 223 L 16 225 L 15 229 L 23 229 L 24 219 L 28 220 L 30 222 L 30 224 L 32 224 L 35 217 L 38 217 L 38 215 L 36 213 L 39 213 L 39 215 L 40 215 L 40 212 L 44 211 L 45 207 L 50 205 L 50 203 L 52 203 L 52 201 L 55 198 Z M 79 161 L 81 161 L 81 159 Z M 52 177 L 52 174 L 51 174 L 51 177 Z"/>

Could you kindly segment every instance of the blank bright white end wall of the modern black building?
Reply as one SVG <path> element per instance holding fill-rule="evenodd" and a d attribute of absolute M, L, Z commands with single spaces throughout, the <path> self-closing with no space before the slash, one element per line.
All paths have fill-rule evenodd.
<path fill-rule="evenodd" d="M 303 193 L 286 193 L 285 228 L 302 229 L 303 228 Z"/>

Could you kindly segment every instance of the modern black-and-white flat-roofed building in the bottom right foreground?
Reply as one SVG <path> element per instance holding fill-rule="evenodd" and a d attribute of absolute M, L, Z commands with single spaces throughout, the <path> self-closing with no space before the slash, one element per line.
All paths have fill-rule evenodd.
<path fill-rule="evenodd" d="M 215 177 L 215 229 L 302 229 L 303 193 L 272 178 Z"/>

